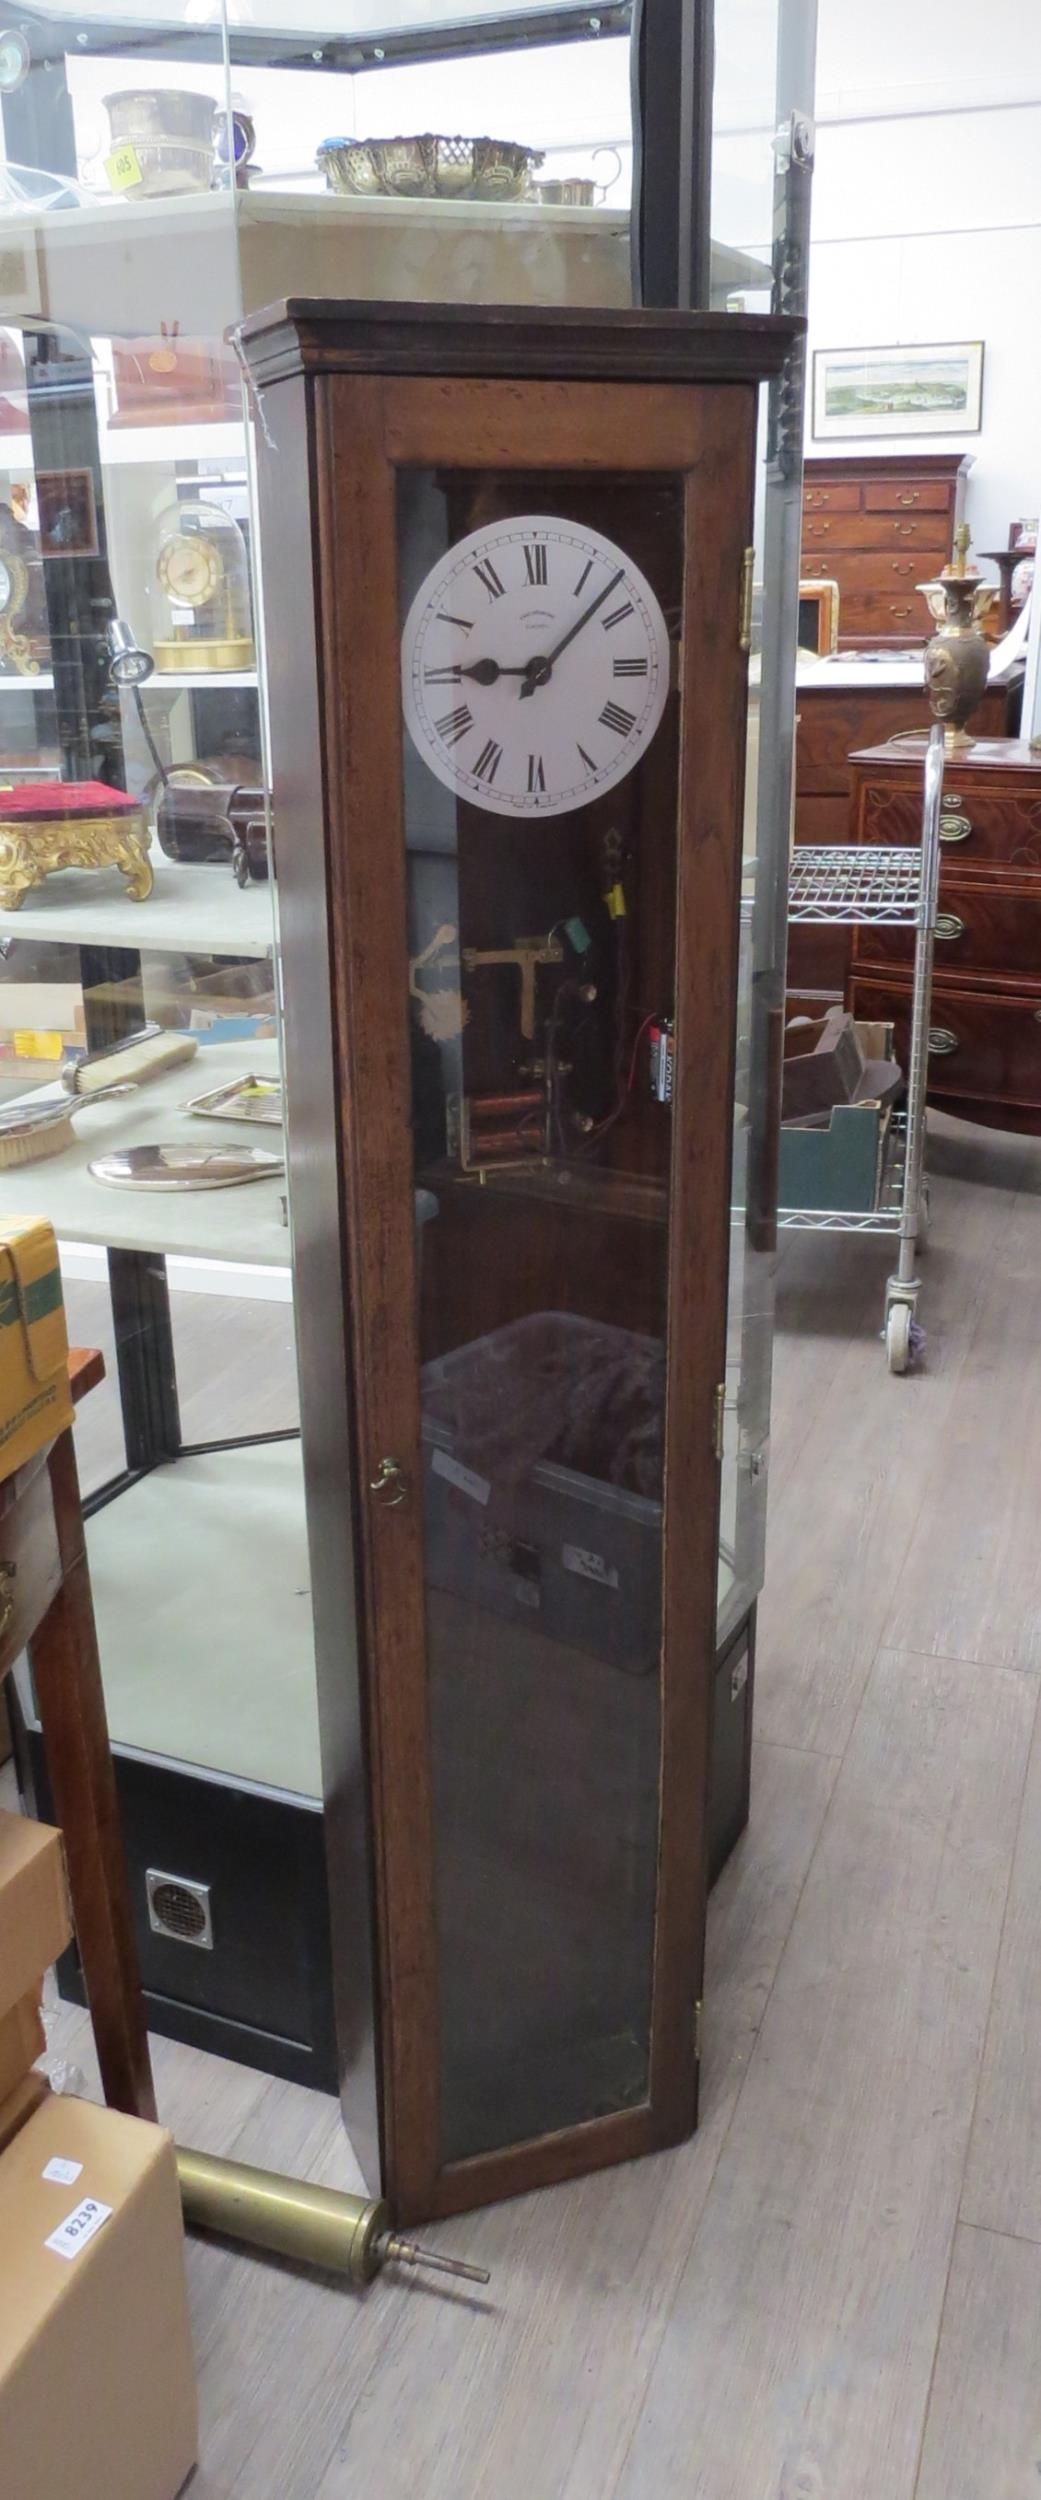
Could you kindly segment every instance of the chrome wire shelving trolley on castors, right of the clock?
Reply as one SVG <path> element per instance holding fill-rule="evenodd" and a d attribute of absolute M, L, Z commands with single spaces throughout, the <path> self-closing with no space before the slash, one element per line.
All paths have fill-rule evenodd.
<path fill-rule="evenodd" d="M 918 1242 L 928 1228 L 926 1192 L 926 1065 L 928 1000 L 933 988 L 933 938 L 941 858 L 943 725 L 936 720 L 923 770 L 921 845 L 883 848 L 873 842 L 821 850 L 798 845 L 791 862 L 788 922 L 913 928 L 911 1040 L 906 1068 L 906 1110 L 891 1122 L 878 1200 L 873 1208 L 838 1212 L 833 1208 L 781 1208 L 786 1232 L 891 1232 L 898 1242 L 896 1270 L 886 1280 L 886 1360 L 891 1372 L 906 1372 L 918 1345 Z"/>

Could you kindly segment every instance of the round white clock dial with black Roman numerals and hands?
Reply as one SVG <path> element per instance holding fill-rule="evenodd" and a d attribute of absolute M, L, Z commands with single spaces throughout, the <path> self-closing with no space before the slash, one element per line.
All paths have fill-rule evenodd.
<path fill-rule="evenodd" d="M 455 540 L 400 638 L 410 738 L 495 815 L 613 790 L 661 722 L 668 628 L 638 565 L 583 522 L 526 512 Z"/>

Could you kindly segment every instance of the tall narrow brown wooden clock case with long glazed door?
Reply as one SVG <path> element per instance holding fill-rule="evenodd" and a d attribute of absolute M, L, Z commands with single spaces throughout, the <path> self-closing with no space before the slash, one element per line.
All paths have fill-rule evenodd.
<path fill-rule="evenodd" d="M 793 330 L 398 302 L 288 302 L 243 330 L 278 652 L 273 808 L 343 2108 L 400 2220 L 563 2180 L 696 2125 L 743 585 L 758 385 Z M 596 1150 L 583 1160 L 571 1145 L 568 1175 L 553 1152 L 465 1172 L 440 1110 L 423 1125 L 408 990 L 415 760 L 403 758 L 398 658 L 410 475 L 445 498 L 450 540 L 498 510 L 596 515 L 671 615 L 666 720 L 611 802 L 510 822 L 493 842 L 480 810 L 448 800 L 463 935 L 480 945 L 528 860 L 510 928 L 546 928 L 563 880 L 563 900 L 588 898 L 578 928 L 608 960 L 611 828 L 631 862 L 631 1000 L 671 1010 L 671 1102 L 651 1098 L 646 1038 L 631 1052 L 628 1025 L 623 1100 L 611 1118 L 591 1088 Z M 538 880 L 543 918 L 526 922 Z M 468 1002 L 470 1070 L 488 1052 L 488 1082 L 495 1030 L 480 1028 L 475 985 Z M 423 1195 L 438 1218 L 420 1228 Z M 425 1570 L 420 1380 L 503 1318 L 546 1312 L 623 1320 L 663 1348 L 661 1655 L 623 1672 L 548 1645 L 556 1675 L 528 1660 L 520 1702 L 513 1632 L 493 1608 L 455 1608 L 455 1645 L 435 1628 L 445 1600 Z"/>

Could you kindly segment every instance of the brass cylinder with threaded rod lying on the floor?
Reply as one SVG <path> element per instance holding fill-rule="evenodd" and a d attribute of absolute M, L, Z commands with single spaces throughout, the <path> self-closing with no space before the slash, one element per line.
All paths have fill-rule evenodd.
<path fill-rule="evenodd" d="M 465 2265 L 463 2258 L 445 2258 L 435 2248 L 403 2240 L 378 2198 L 308 2188 L 278 2170 L 253 2170 L 248 2162 L 225 2162 L 183 2148 L 178 2148 L 178 2185 L 185 2222 L 195 2230 L 270 2248 L 278 2258 L 320 2265 L 348 2275 L 350 2282 L 373 2282 L 383 2265 L 425 2265 L 438 2275 L 460 2275 L 463 2282 L 490 2280 L 483 2265 Z"/>

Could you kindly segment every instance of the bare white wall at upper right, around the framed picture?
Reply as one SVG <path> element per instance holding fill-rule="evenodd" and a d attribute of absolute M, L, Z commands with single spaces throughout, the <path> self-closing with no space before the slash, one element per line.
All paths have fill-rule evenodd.
<path fill-rule="evenodd" d="M 1041 505 L 1038 292 L 1041 5 L 821 0 L 811 350 L 986 342 L 981 432 L 916 438 L 971 452 L 978 548 Z"/>

